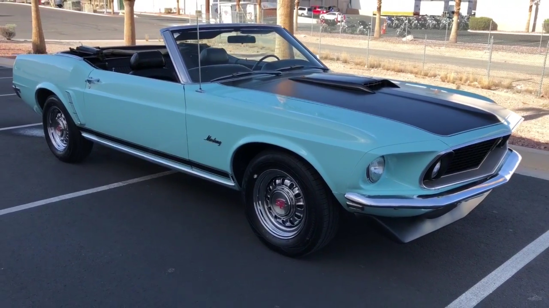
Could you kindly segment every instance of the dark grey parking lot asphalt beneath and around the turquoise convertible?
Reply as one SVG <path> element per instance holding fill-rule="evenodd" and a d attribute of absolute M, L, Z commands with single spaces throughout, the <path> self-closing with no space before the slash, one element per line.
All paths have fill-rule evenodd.
<path fill-rule="evenodd" d="M 0 80 L 0 95 L 12 93 Z M 0 129 L 40 122 L 0 96 Z M 166 170 L 100 146 L 84 163 L 61 163 L 41 126 L 0 130 L 0 145 L 0 213 Z M 0 215 L 0 303 L 445 307 L 549 229 L 547 184 L 516 174 L 466 218 L 408 244 L 353 219 L 326 249 L 289 259 L 255 238 L 238 192 L 175 173 Z M 548 258 L 478 307 L 546 307 Z"/>

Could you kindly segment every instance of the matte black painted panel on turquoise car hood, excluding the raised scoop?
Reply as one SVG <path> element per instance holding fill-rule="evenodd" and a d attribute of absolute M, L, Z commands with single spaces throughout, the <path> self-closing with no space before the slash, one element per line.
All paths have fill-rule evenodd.
<path fill-rule="evenodd" d="M 267 78 L 268 81 L 237 79 L 221 84 L 367 113 L 440 136 L 451 136 L 501 123 L 496 115 L 488 111 L 395 88 L 382 88 L 376 90 L 376 93 L 367 93 L 293 81 L 289 77 L 292 76 L 271 77 Z"/>

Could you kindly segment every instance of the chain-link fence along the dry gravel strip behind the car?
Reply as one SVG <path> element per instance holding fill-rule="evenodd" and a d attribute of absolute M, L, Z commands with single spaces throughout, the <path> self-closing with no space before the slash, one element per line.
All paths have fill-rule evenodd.
<path fill-rule="evenodd" d="M 296 36 L 323 60 L 440 76 L 457 84 L 514 88 L 549 94 L 545 78 L 549 33 L 498 33 L 494 21 L 460 19 L 452 42 L 453 20 L 446 17 L 385 18 L 373 38 L 376 19 L 346 15 L 343 21 L 300 23 Z M 469 31 L 471 27 L 482 30 Z M 545 80 L 544 80 L 545 79 Z"/>

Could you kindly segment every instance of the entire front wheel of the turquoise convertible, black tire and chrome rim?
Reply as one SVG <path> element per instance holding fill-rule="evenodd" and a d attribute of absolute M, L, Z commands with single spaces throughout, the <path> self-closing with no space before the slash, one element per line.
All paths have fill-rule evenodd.
<path fill-rule="evenodd" d="M 339 204 L 316 170 L 298 156 L 260 153 L 250 162 L 242 186 L 251 228 L 278 253 L 310 254 L 337 232 Z"/>

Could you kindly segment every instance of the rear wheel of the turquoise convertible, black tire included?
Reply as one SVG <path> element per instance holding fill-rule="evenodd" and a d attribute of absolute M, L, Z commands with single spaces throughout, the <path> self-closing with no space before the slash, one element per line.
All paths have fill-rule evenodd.
<path fill-rule="evenodd" d="M 49 150 L 60 161 L 81 162 L 92 151 L 93 142 L 82 137 L 57 95 L 51 95 L 46 99 L 42 124 Z"/>

